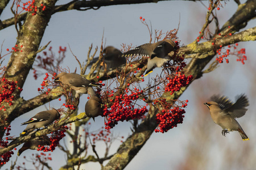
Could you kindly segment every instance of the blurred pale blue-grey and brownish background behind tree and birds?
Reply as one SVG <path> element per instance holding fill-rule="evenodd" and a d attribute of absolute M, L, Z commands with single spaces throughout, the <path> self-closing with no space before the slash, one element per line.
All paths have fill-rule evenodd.
<path fill-rule="evenodd" d="M 59 1 L 59 4 L 67 2 L 69 1 Z M 241 3 L 243 2 L 245 1 L 241 1 Z M 203 3 L 208 6 L 208 1 Z M 217 11 L 220 27 L 237 9 L 237 4 L 234 1 L 222 1 L 221 3 L 223 7 L 220 8 L 220 11 Z M 3 11 L 1 20 L 12 16 L 9 10 L 10 6 Z M 199 35 L 199 31 L 205 22 L 207 12 L 205 6 L 200 2 L 166 1 L 101 7 L 98 10 L 58 12 L 52 16 L 41 45 L 44 46 L 51 41 L 49 46 L 52 46 L 56 55 L 59 46 L 67 46 L 67 57 L 61 67 L 69 67 L 71 72 L 75 71 L 77 67 L 77 73 L 79 73 L 79 65 L 71 54 L 68 45 L 82 62 L 86 60 L 88 48 L 91 44 L 93 44 L 93 48 L 100 47 L 103 32 L 106 46 L 112 45 L 120 49 L 122 43 L 132 43 L 134 46 L 147 43 L 150 36 L 146 26 L 139 20 L 140 16 L 145 18 L 148 24 L 152 24 L 153 32 L 154 29 L 162 29 L 163 32 L 167 32 L 177 28 L 180 23 L 177 36 L 181 40 L 181 44 L 187 45 Z M 247 24 L 245 29 L 255 27 L 255 25 L 256 22 L 253 20 Z M 2 54 L 5 54 L 5 49 L 11 48 L 16 42 L 14 26 L 1 30 L 0 41 L 1 43 L 4 41 Z M 255 46 L 255 41 L 240 42 L 237 46 L 238 49 L 246 49 L 247 61 L 245 61 L 245 65 L 237 62 L 236 56 L 230 56 L 229 63 L 221 63 L 216 70 L 195 80 L 180 97 L 180 100 L 189 100 L 188 107 L 185 108 L 183 124 L 177 125 L 177 128 L 171 129 L 168 133 L 153 133 L 126 169 L 255 169 Z M 6 57 L 3 65 L 7 64 L 8 57 Z M 189 62 L 189 59 L 187 62 Z M 161 68 L 155 69 L 151 77 L 160 73 L 160 71 L 162 71 Z M 21 94 L 24 99 L 30 99 L 38 95 L 37 88 L 40 87 L 43 78 L 44 75 L 35 80 L 31 71 Z M 213 94 L 223 94 L 234 101 L 235 96 L 242 93 L 249 97 L 250 106 L 245 116 L 237 121 L 245 130 L 250 141 L 242 141 L 237 131 L 223 137 L 221 127 L 214 124 L 208 108 L 203 104 Z M 84 107 L 81 106 L 85 105 L 86 97 L 87 95 L 82 95 L 80 98 L 79 112 L 84 112 Z M 49 106 L 60 108 L 63 102 L 64 98 L 61 101 L 51 101 L 50 104 L 34 109 L 17 118 L 11 124 L 11 135 L 18 136 L 25 128 L 20 124 L 34 116 L 35 113 L 43 111 Z M 95 122 L 92 121 L 90 130 L 100 129 L 102 126 L 104 126 L 104 118 L 97 117 Z M 130 122 L 122 122 L 112 129 L 112 133 L 124 136 L 126 139 L 131 134 L 130 127 Z M 70 139 L 65 138 L 61 142 L 66 142 L 68 145 L 69 141 Z M 120 144 L 120 141 L 115 141 L 110 149 L 110 154 L 114 154 Z M 17 147 L 17 151 L 20 147 Z M 100 156 L 103 156 L 104 143 L 97 143 L 96 150 Z M 11 162 L 16 159 L 17 151 L 3 169 L 10 168 Z M 89 147 L 88 152 L 93 154 L 91 147 Z M 32 153 L 38 152 L 25 151 L 24 155 L 19 157 L 17 165 L 24 166 L 23 162 L 26 162 L 26 168 L 33 169 L 33 165 L 26 161 L 26 159 L 32 157 Z M 23 156 L 26 156 L 26 159 Z M 48 163 L 53 169 L 58 169 L 64 165 L 62 163 L 65 162 L 66 158 L 59 149 L 52 152 L 51 156 L 53 160 Z M 100 165 L 98 163 L 88 163 L 81 166 L 81 169 L 84 168 L 100 169 Z"/>

